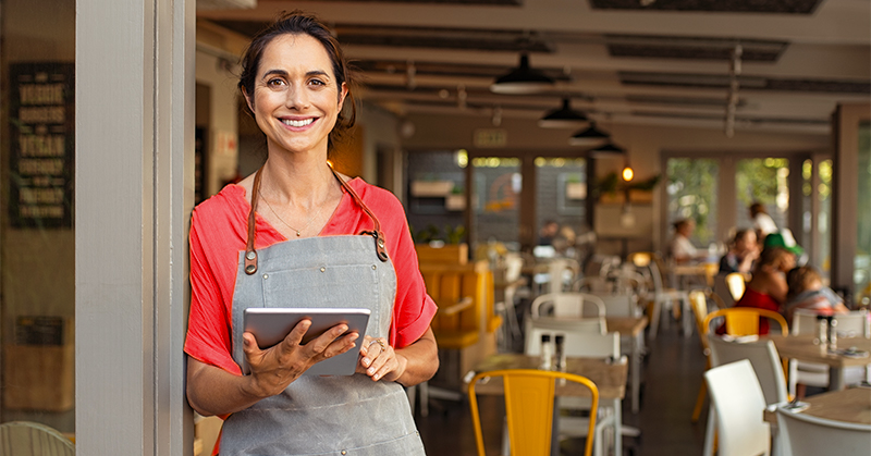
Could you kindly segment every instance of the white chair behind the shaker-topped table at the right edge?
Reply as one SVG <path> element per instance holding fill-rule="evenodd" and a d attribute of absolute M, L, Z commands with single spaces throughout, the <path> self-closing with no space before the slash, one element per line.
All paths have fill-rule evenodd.
<path fill-rule="evenodd" d="M 835 316 L 837 320 L 838 337 L 862 337 L 868 336 L 864 334 L 864 319 L 867 313 L 861 311 L 851 311 L 846 315 Z M 793 335 L 798 334 L 817 334 L 817 313 L 812 310 L 797 309 L 793 313 L 793 324 L 790 332 Z M 845 344 L 848 342 L 842 341 Z M 854 367 L 844 370 L 844 381 L 846 384 L 861 383 L 862 380 L 871 380 L 869 372 L 871 369 L 868 367 Z M 796 395 L 796 385 L 803 384 L 808 386 L 826 387 L 829 386 L 829 366 L 817 362 L 789 360 L 789 395 Z"/>

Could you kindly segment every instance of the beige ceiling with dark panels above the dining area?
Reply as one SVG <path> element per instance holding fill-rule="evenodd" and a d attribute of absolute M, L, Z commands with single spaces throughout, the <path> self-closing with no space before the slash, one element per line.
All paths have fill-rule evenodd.
<path fill-rule="evenodd" d="M 590 7 L 593 1 L 625 5 L 635 0 L 457 1 L 259 0 L 254 9 L 199 9 L 198 17 L 244 33 L 282 10 L 316 13 L 335 27 L 348 57 L 365 70 L 363 97 L 398 113 L 492 115 L 498 107 L 503 116 L 540 118 L 567 96 L 593 119 L 723 125 L 727 54 L 738 42 L 746 59 L 737 127 L 825 134 L 837 103 L 871 98 L 869 0 L 821 0 L 811 14 L 655 10 L 798 2 L 788 0 L 655 0 L 643 10 Z M 479 1 L 494 2 L 503 1 Z M 413 47 L 412 39 L 428 45 Z M 476 49 L 484 42 L 496 47 Z M 531 51 L 530 63 L 560 76 L 554 88 L 535 96 L 489 93 L 495 75 L 517 65 L 518 44 L 530 42 L 551 50 Z M 615 56 L 621 46 L 647 49 L 642 57 Z M 688 47 L 695 58 L 651 56 Z M 752 52 L 770 61 L 752 60 Z M 416 72 L 413 86 L 409 65 Z M 463 90 L 465 108 L 458 97 Z"/>

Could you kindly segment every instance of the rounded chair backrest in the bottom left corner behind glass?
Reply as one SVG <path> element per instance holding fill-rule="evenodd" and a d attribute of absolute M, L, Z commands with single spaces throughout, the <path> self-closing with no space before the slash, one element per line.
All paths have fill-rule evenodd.
<path fill-rule="evenodd" d="M 0 424 L 0 455 L 74 456 L 75 445 L 45 424 L 10 421 Z"/>

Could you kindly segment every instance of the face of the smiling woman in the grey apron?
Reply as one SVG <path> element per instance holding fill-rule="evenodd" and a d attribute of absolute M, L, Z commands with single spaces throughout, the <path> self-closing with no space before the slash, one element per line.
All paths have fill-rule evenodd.
<path fill-rule="evenodd" d="M 254 94 L 245 94 L 269 151 L 327 152 L 347 87 L 335 81 L 323 46 L 309 35 L 282 35 L 263 49 Z"/>

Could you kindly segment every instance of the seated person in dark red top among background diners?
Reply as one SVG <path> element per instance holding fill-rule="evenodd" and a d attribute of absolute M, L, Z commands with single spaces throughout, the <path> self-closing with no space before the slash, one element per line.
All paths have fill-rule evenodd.
<path fill-rule="evenodd" d="M 795 267 L 796 259 L 789 251 L 780 247 L 769 247 L 759 255 L 759 260 L 753 268 L 753 276 L 747 282 L 747 288 L 735 307 L 756 307 L 760 309 L 781 311 L 781 305 L 786 301 L 786 271 Z M 766 318 L 759 319 L 759 334 L 769 333 Z"/>

